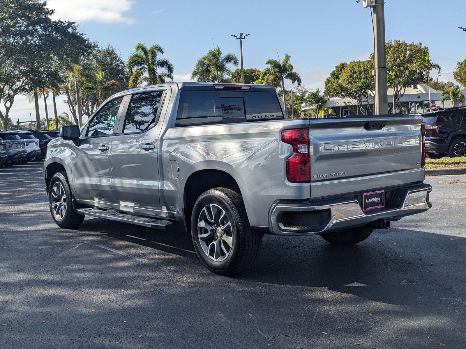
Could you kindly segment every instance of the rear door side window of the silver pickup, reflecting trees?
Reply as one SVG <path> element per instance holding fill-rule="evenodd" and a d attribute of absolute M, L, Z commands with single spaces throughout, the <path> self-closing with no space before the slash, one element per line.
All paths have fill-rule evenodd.
<path fill-rule="evenodd" d="M 146 131 L 157 121 L 163 91 L 133 94 L 124 119 L 123 133 Z"/>

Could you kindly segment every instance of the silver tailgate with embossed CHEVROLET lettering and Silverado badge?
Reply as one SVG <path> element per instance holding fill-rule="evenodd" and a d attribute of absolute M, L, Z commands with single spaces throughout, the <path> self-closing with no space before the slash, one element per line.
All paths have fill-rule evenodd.
<path fill-rule="evenodd" d="M 418 116 L 311 119 L 311 198 L 422 181 Z"/>

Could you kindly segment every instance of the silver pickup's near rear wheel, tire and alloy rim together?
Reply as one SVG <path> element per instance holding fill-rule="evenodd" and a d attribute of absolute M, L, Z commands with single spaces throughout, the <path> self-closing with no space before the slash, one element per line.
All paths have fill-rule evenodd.
<path fill-rule="evenodd" d="M 192 209 L 191 235 L 199 259 L 212 272 L 234 275 L 259 255 L 262 234 L 252 231 L 243 198 L 227 188 L 202 193 Z"/>

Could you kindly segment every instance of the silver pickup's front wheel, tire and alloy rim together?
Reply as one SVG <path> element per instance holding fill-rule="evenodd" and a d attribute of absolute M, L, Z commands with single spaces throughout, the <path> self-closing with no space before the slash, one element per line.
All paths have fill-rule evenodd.
<path fill-rule="evenodd" d="M 84 220 L 77 214 L 71 204 L 71 189 L 65 172 L 57 172 L 48 185 L 48 202 L 50 213 L 60 228 L 76 228 Z"/>

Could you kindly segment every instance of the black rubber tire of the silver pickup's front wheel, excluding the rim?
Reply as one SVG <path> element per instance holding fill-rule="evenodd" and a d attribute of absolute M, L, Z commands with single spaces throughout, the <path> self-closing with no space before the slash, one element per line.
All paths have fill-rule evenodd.
<path fill-rule="evenodd" d="M 62 188 L 64 189 L 64 194 L 66 195 L 64 200 L 66 208 L 64 209 L 62 219 L 54 214 L 54 210 L 52 208 L 52 201 L 54 200 L 53 188 L 57 182 L 61 183 Z M 80 215 L 73 210 L 73 205 L 71 203 L 71 189 L 69 188 L 68 177 L 65 172 L 57 172 L 52 176 L 50 184 L 48 185 L 48 206 L 53 220 L 60 228 L 76 228 L 79 227 L 84 220 L 84 215 Z"/>

